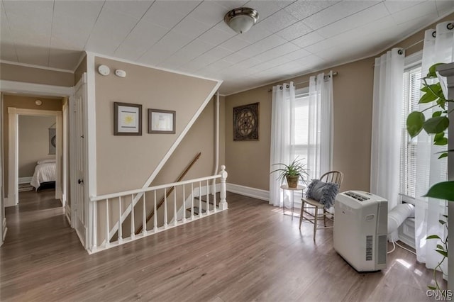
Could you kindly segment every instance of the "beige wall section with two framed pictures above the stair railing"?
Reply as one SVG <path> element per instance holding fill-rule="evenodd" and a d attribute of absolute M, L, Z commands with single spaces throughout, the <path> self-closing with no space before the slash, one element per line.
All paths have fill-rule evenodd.
<path fill-rule="evenodd" d="M 177 140 L 217 82 L 158 69 L 95 58 L 95 68 L 110 67 L 109 76 L 96 72 L 97 194 L 137 189 Z M 126 71 L 116 77 L 115 69 Z M 142 135 L 114 135 L 114 102 L 142 104 Z M 148 109 L 175 110 L 175 134 L 148 134 Z"/>

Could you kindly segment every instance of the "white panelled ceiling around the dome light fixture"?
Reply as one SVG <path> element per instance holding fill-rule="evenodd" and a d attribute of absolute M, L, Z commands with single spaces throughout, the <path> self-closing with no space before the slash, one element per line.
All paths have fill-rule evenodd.
<path fill-rule="evenodd" d="M 239 6 L 258 23 L 236 34 Z M 221 94 L 377 52 L 454 11 L 453 0 L 1 0 L 0 60 L 73 71 L 82 51 L 223 79 Z"/>

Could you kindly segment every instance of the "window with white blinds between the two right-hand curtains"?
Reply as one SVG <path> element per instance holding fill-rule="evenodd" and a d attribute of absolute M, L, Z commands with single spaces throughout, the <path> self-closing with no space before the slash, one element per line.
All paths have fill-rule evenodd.
<path fill-rule="evenodd" d="M 402 106 L 402 140 L 400 156 L 400 194 L 409 201 L 415 198 L 416 184 L 416 143 L 417 137 L 411 138 L 406 133 L 406 117 L 411 111 L 418 110 L 421 95 L 421 64 L 407 67 L 404 71 L 404 106 Z"/>

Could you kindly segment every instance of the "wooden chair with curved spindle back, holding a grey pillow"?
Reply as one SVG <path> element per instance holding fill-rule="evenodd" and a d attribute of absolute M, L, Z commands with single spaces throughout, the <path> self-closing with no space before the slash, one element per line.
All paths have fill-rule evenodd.
<path fill-rule="evenodd" d="M 341 184 L 343 181 L 343 173 L 339 172 L 339 171 L 327 172 L 320 177 L 320 180 L 324 181 L 324 182 L 332 182 L 334 184 L 337 184 L 338 188 L 341 189 Z M 322 209 L 323 209 L 323 213 L 319 213 L 319 210 L 322 210 Z M 308 210 L 314 210 L 314 213 L 311 213 Z M 304 217 L 304 214 L 306 214 L 306 216 L 310 216 L 311 218 Z M 313 223 L 314 224 L 314 241 L 315 241 L 315 236 L 316 236 L 316 232 L 318 229 L 317 223 L 318 223 L 319 218 L 321 218 L 323 216 L 323 228 L 333 228 L 332 226 L 326 227 L 326 216 L 327 215 L 331 216 L 331 218 L 328 218 L 328 219 L 331 219 L 331 220 L 334 219 L 334 214 L 326 211 L 325 206 L 323 204 L 319 203 L 319 201 L 316 201 L 311 198 L 306 198 L 306 197 L 301 198 L 301 213 L 299 215 L 299 228 L 301 229 L 301 222 L 303 220 L 308 220 L 310 223 Z M 319 229 L 322 229 L 322 228 L 319 228 Z"/>

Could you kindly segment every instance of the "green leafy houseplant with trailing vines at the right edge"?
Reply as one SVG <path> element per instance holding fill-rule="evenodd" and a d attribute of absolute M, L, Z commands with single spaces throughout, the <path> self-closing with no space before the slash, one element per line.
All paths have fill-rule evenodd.
<path fill-rule="evenodd" d="M 436 111 L 432 113 L 431 118 L 426 120 L 423 111 L 414 111 L 409 114 L 406 118 L 406 130 L 411 136 L 411 138 L 416 137 L 421 133 L 422 130 L 426 131 L 428 135 L 433 135 L 433 144 L 434 145 L 448 145 L 448 138 L 445 134 L 448 132 L 449 126 L 449 113 L 454 109 L 448 111 L 447 104 L 451 103 L 454 104 L 453 100 L 445 99 L 443 95 L 443 89 L 441 88 L 440 82 L 436 84 L 428 84 L 427 79 L 436 79 L 436 67 L 443 63 L 438 63 L 432 65 L 429 68 L 429 72 L 426 77 L 422 78 L 423 81 L 423 88 L 421 91 L 423 94 L 421 95 L 421 99 L 419 99 L 419 104 L 431 104 L 428 108 L 424 109 L 426 111 L 431 108 L 437 108 Z M 454 150 L 445 150 L 440 152 L 439 159 L 443 157 L 448 157 L 449 152 L 453 152 Z M 431 198 L 438 198 L 447 201 L 454 201 L 454 181 L 442 181 L 438 184 L 434 184 L 431 189 L 428 190 L 426 197 Z M 448 216 L 443 215 L 445 220 L 438 220 L 443 228 L 446 229 L 446 233 L 448 231 Z M 433 279 L 435 280 L 435 286 L 429 285 L 429 289 L 433 290 L 440 290 L 440 285 L 436 279 L 436 270 L 439 269 L 442 273 L 443 270 L 441 269 L 441 264 L 448 258 L 448 237 L 445 237 L 444 240 L 439 237 L 438 235 L 428 235 L 426 237 L 427 240 L 429 239 L 436 239 L 440 240 L 441 244 L 436 245 L 436 252 L 443 256 L 438 265 L 433 269 Z"/>

